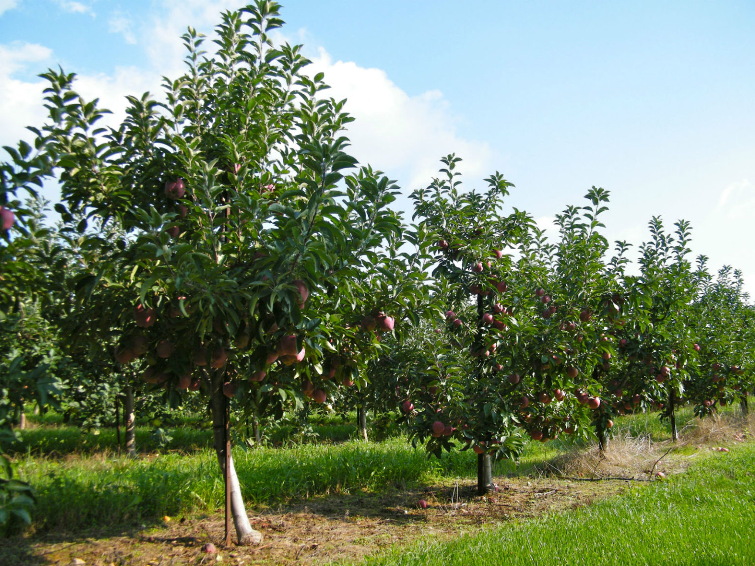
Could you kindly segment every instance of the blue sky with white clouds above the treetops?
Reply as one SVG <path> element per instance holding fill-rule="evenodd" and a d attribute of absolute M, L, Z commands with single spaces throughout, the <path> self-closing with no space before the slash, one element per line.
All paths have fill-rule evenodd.
<path fill-rule="evenodd" d="M 242 4 L 0 0 L 0 143 L 41 119 L 48 66 L 117 113 L 180 72 L 187 25 L 210 32 Z M 406 194 L 449 152 L 470 188 L 504 173 L 543 226 L 603 186 L 609 238 L 639 244 L 652 215 L 685 218 L 693 252 L 755 291 L 755 3 L 282 4 L 282 35 L 350 101 L 354 154 Z"/>

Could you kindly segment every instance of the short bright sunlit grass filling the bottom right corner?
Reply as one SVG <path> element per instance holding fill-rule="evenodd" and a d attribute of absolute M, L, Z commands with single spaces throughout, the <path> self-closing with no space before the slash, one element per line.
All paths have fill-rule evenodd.
<path fill-rule="evenodd" d="M 714 453 L 668 481 L 572 512 L 446 542 L 427 538 L 365 566 L 751 566 L 755 445 Z"/>

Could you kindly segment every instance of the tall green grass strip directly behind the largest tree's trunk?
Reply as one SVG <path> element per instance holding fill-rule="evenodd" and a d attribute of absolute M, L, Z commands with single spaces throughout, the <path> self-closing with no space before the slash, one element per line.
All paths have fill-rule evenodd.
<path fill-rule="evenodd" d="M 296 448 L 236 448 L 245 501 L 273 503 L 344 491 L 377 491 L 476 473 L 471 452 L 427 457 L 405 438 Z M 220 508 L 223 482 L 214 452 L 157 454 L 137 460 L 78 454 L 28 456 L 17 466 L 38 496 L 35 527 L 76 530 L 122 521 L 151 521 Z"/>

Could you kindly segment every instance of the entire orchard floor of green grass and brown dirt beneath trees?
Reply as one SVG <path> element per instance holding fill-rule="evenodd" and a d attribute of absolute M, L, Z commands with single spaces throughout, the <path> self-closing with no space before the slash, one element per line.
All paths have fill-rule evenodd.
<path fill-rule="evenodd" d="M 504 491 L 482 498 L 474 495 L 470 451 L 438 460 L 395 431 L 379 442 L 359 441 L 353 423 L 340 417 L 313 419 L 304 434 L 287 423 L 276 430 L 285 437 L 289 427 L 278 447 L 245 447 L 237 429 L 244 497 L 255 528 L 270 541 L 261 555 L 246 549 L 242 556 L 259 564 L 339 556 L 351 564 L 371 556 L 365 564 L 375 566 L 755 564 L 741 528 L 755 524 L 755 449 L 745 441 L 755 434 L 753 423 L 738 420 L 736 410 L 693 420 L 688 408 L 678 422 L 682 441 L 673 448 L 657 414 L 618 419 L 605 457 L 572 438 L 531 442 L 518 464 L 495 464 Z M 137 429 L 135 459 L 117 453 L 112 429 L 82 433 L 53 419 L 25 431 L 14 457 L 38 506 L 32 531 L 11 541 L 19 550 L 10 563 L 96 562 L 104 555 L 116 564 L 201 563 L 199 544 L 219 544 L 222 529 L 219 466 L 199 423 L 165 431 L 173 438 L 160 447 L 152 429 Z M 727 443 L 730 454 L 713 452 Z M 649 483 L 658 459 L 657 469 L 673 479 Z M 695 467 L 682 473 L 689 462 Z M 627 475 L 640 481 L 590 482 Z M 419 509 L 420 499 L 430 506 Z M 464 503 L 461 512 L 452 510 L 455 501 Z M 176 521 L 163 521 L 166 515 Z M 304 554 L 302 540 L 312 545 Z M 173 557 L 163 560 L 166 553 Z"/>

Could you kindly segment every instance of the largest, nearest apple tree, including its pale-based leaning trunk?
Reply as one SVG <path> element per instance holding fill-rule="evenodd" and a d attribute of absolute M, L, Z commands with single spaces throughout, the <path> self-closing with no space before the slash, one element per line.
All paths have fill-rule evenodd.
<path fill-rule="evenodd" d="M 52 121 L 40 131 L 63 217 L 122 232 L 89 238 L 100 262 L 77 281 L 82 336 L 115 342 L 119 363 L 142 360 L 171 395 L 207 396 L 241 544 L 261 535 L 233 469 L 228 400 L 325 402 L 363 380 L 376 333 L 396 332 L 396 312 L 426 292 L 419 237 L 414 254 L 399 251 L 396 187 L 371 168 L 346 173 L 352 118 L 323 96 L 322 75 L 304 75 L 299 46 L 273 46 L 281 25 L 275 2 L 227 12 L 213 55 L 189 29 L 188 72 L 165 79 L 164 103 L 129 97 L 117 129 L 95 128 L 104 111 L 72 90 L 73 75 L 48 72 Z M 356 324 L 366 316 L 374 332 Z"/>

